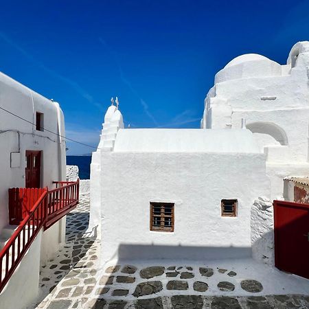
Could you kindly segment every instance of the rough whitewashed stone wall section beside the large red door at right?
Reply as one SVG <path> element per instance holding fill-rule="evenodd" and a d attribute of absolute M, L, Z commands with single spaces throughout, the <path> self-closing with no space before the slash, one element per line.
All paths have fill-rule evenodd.
<path fill-rule="evenodd" d="M 273 266 L 273 203 L 268 198 L 259 197 L 251 208 L 251 242 L 253 258 Z"/>

